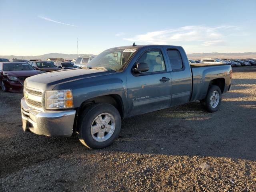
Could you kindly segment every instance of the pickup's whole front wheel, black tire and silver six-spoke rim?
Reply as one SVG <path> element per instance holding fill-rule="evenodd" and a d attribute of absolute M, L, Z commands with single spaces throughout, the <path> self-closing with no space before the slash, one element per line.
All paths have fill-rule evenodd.
<path fill-rule="evenodd" d="M 109 146 L 120 133 L 121 117 L 111 104 L 92 104 L 81 117 L 78 138 L 88 148 Z"/>

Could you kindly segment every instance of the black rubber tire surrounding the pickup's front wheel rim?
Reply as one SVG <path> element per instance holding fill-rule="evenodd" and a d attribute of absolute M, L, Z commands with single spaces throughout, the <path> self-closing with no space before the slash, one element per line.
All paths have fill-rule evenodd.
<path fill-rule="evenodd" d="M 115 129 L 110 138 L 105 141 L 96 141 L 91 134 L 91 126 L 94 119 L 102 113 L 111 114 L 114 118 Z M 109 146 L 119 136 L 121 130 L 121 116 L 118 110 L 111 104 L 98 103 L 88 106 L 80 116 L 78 138 L 88 148 L 101 149 Z"/>

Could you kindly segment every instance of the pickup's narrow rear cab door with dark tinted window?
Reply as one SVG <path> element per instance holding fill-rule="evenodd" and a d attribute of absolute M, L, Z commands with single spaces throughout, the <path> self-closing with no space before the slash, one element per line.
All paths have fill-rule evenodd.
<path fill-rule="evenodd" d="M 182 47 L 166 48 L 165 52 L 171 68 L 171 106 L 185 104 L 189 102 L 192 92 L 192 73 L 188 58 Z"/>

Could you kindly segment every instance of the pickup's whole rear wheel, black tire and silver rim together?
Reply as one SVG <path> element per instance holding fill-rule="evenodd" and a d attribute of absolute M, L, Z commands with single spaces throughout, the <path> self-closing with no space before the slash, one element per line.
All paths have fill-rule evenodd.
<path fill-rule="evenodd" d="M 221 90 L 218 86 L 210 86 L 206 98 L 203 100 L 205 109 L 208 112 L 216 112 L 220 108 Z"/>

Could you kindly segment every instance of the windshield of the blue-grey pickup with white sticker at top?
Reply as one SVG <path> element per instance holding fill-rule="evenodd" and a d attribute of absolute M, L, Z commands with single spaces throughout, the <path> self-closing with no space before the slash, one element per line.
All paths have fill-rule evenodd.
<path fill-rule="evenodd" d="M 106 50 L 91 60 L 87 67 L 89 69 L 102 69 L 121 71 L 128 64 L 137 49 L 112 49 Z"/>

